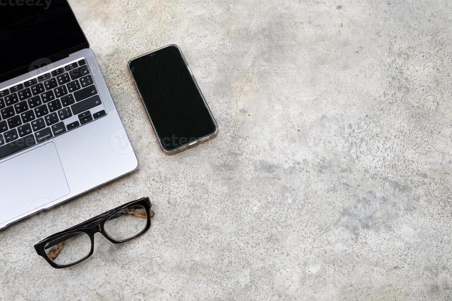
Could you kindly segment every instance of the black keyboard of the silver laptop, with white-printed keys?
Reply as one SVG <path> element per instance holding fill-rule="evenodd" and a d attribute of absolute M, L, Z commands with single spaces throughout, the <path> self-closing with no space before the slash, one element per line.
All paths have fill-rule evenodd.
<path fill-rule="evenodd" d="M 0 159 L 106 115 L 85 59 L 0 91 Z"/>

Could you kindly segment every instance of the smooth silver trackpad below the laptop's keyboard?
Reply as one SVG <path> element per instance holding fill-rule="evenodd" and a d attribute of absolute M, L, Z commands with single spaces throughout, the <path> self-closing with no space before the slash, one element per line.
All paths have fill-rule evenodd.
<path fill-rule="evenodd" d="M 0 224 L 69 194 L 53 142 L 0 163 Z"/>

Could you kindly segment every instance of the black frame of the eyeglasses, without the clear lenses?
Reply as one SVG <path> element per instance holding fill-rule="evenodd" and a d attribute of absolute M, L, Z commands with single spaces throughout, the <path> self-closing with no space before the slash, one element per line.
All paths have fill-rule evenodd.
<path fill-rule="evenodd" d="M 147 219 L 146 227 L 135 236 L 132 236 L 132 237 L 127 238 L 122 241 L 117 241 L 117 240 L 113 239 L 112 237 L 108 236 L 107 232 L 105 232 L 105 230 L 104 230 L 104 224 L 108 220 L 108 218 L 113 216 L 115 213 L 118 213 L 118 211 L 121 211 L 122 209 L 125 209 L 131 205 L 142 205 L 146 209 L 146 219 Z M 93 253 L 94 253 L 94 234 L 95 233 L 100 232 L 105 238 L 107 238 L 109 241 L 113 242 L 113 244 L 120 244 L 122 242 L 130 241 L 130 240 L 136 238 L 137 236 L 140 236 L 144 232 L 146 232 L 149 229 L 149 227 L 151 227 L 151 216 L 153 216 L 153 214 L 151 214 L 151 206 L 152 206 L 151 201 L 149 200 L 148 197 L 142 198 L 142 199 L 137 199 L 137 200 L 129 202 L 127 204 L 123 204 L 119 207 L 116 207 L 114 209 L 108 210 L 107 212 L 99 214 L 98 216 L 95 216 L 94 218 L 90 218 L 89 220 L 87 220 L 85 222 L 81 222 L 80 224 L 75 225 L 74 227 L 70 227 L 64 231 L 61 231 L 61 232 L 55 233 L 51 236 L 48 236 L 47 238 L 43 239 L 42 241 L 40 241 L 36 245 L 34 245 L 34 249 L 36 250 L 36 253 L 38 253 L 38 255 L 44 257 L 44 259 L 46 259 L 47 262 L 55 269 L 63 269 L 63 268 L 71 267 L 75 264 L 79 264 L 80 262 L 88 259 L 91 255 L 93 255 Z M 47 256 L 47 254 L 44 250 L 44 246 L 47 244 L 47 242 L 54 240 L 56 237 L 59 237 L 64 234 L 75 233 L 75 232 L 86 233 L 89 236 L 89 238 L 91 239 L 91 250 L 89 251 L 89 254 L 86 255 L 84 258 L 82 258 L 74 263 L 71 263 L 71 264 L 66 264 L 66 265 L 56 264 L 55 262 L 52 261 L 52 259 L 50 259 Z"/>

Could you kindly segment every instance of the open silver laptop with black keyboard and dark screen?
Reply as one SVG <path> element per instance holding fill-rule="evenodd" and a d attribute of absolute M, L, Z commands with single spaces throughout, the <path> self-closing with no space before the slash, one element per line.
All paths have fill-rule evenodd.
<path fill-rule="evenodd" d="M 138 162 L 67 1 L 6 5 L 0 17 L 1 229 Z"/>

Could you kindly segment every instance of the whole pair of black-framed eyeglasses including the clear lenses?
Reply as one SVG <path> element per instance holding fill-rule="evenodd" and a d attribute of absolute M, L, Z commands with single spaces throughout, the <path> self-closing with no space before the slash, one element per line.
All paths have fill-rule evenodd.
<path fill-rule="evenodd" d="M 153 216 L 149 198 L 137 199 L 53 234 L 34 249 L 52 267 L 67 268 L 93 255 L 94 233 L 102 233 L 114 244 L 130 241 L 149 229 Z"/>

